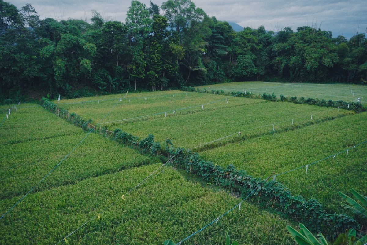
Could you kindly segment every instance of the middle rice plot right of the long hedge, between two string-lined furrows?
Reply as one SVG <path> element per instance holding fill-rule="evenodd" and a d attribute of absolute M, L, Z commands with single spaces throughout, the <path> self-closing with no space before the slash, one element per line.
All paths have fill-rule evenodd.
<path fill-rule="evenodd" d="M 159 142 L 168 138 L 175 146 L 186 148 L 203 145 L 196 149 L 200 151 L 216 147 L 218 144 L 238 142 L 264 134 L 293 130 L 353 114 L 351 111 L 329 110 L 317 106 L 257 101 L 262 101 L 262 103 L 216 110 L 204 109 L 199 113 L 185 115 L 172 114 L 170 117 L 163 116 L 146 121 L 115 125 L 110 130 L 121 128 L 128 134 L 139 138 L 145 138 L 152 134 Z M 261 113 L 259 113 L 260 111 Z M 238 132 L 241 132 L 240 137 Z M 225 138 L 217 141 L 223 137 Z M 208 142 L 212 143 L 207 144 Z"/>

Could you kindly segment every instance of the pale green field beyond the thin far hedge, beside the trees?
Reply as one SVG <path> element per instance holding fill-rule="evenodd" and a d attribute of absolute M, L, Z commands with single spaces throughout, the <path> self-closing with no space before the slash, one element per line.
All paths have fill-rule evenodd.
<path fill-rule="evenodd" d="M 280 95 L 286 97 L 297 96 L 313 99 L 325 100 L 343 100 L 345 102 L 357 102 L 360 98 L 361 103 L 367 102 L 367 86 L 355 84 L 305 84 L 305 83 L 268 83 L 268 82 L 236 82 L 236 83 L 221 83 L 201 87 L 199 91 L 207 90 L 224 92 L 251 92 L 252 94 L 262 95 L 274 93 L 277 98 Z M 354 95 L 353 95 L 354 93 Z"/>

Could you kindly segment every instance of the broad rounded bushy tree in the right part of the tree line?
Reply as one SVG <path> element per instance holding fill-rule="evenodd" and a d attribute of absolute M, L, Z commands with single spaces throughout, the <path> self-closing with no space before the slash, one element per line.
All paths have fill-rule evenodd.
<path fill-rule="evenodd" d="M 297 30 L 289 35 L 286 42 L 273 47 L 275 69 L 296 81 L 322 82 L 330 79 L 330 71 L 338 62 L 336 46 L 330 35 L 308 26 Z"/>

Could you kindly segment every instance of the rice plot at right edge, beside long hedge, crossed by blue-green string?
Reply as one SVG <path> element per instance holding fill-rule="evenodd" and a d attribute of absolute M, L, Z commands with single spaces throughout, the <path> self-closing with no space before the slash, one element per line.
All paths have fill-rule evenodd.
<path fill-rule="evenodd" d="M 215 164 L 233 164 L 248 174 L 268 178 L 272 173 L 287 172 L 340 151 L 365 140 L 367 114 L 360 113 L 338 118 L 323 124 L 281 134 L 265 135 L 240 143 L 217 147 L 201 153 L 201 156 Z M 348 192 L 367 189 L 367 143 L 310 165 L 306 169 L 289 172 L 276 177 L 288 187 L 292 194 L 301 194 L 306 199 L 316 198 L 331 211 L 342 212 L 337 191 Z"/>

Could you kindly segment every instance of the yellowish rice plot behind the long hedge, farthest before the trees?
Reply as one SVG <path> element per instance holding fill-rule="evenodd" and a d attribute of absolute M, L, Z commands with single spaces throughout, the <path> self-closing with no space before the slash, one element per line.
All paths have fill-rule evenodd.
<path fill-rule="evenodd" d="M 98 97 L 88 98 L 91 102 L 75 102 L 75 100 L 67 100 L 64 104 L 60 104 L 72 113 L 76 113 L 83 118 L 93 118 L 93 124 L 101 122 L 105 124 L 119 124 L 124 121 L 136 121 L 146 118 L 164 117 L 166 112 L 168 116 L 172 114 L 186 114 L 205 109 L 228 106 L 226 101 L 228 96 L 214 96 L 199 93 L 182 93 L 175 91 L 175 94 L 167 93 L 165 96 L 157 96 L 156 93 L 138 94 L 139 97 L 123 97 L 121 101 L 117 99 L 97 100 Z M 112 98 L 113 96 L 111 96 Z M 109 98 L 109 97 L 107 97 Z M 254 103 L 254 101 L 243 100 L 238 98 L 230 98 L 233 105 L 246 105 Z M 255 102 L 258 103 L 258 102 Z M 104 118 L 106 113 L 113 107 L 113 111 Z M 174 113 L 175 111 L 175 113 Z M 128 120 L 127 120 L 128 119 Z"/>

